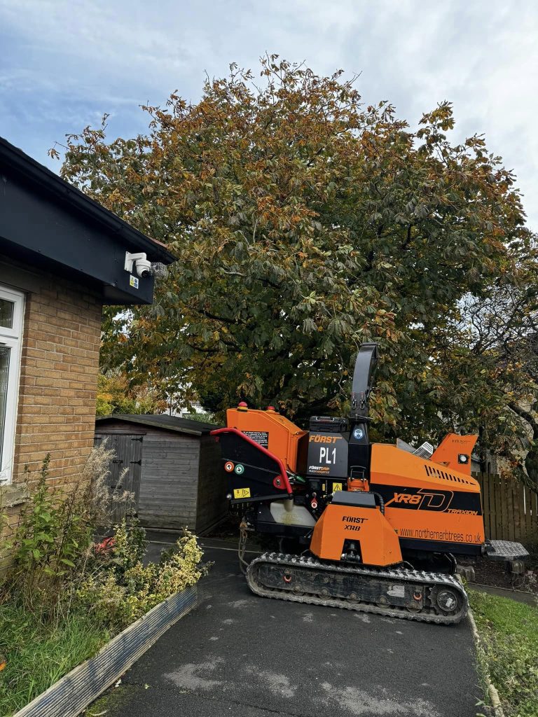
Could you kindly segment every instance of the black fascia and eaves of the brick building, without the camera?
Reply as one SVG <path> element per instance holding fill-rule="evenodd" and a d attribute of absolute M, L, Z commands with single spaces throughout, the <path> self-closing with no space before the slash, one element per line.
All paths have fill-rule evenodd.
<path fill-rule="evenodd" d="M 0 247 L 12 255 L 88 285 L 103 303 L 151 303 L 153 277 L 124 269 L 126 252 L 145 252 L 151 262 L 175 261 L 98 202 L 0 138 Z M 134 282 L 136 284 L 136 282 Z"/>

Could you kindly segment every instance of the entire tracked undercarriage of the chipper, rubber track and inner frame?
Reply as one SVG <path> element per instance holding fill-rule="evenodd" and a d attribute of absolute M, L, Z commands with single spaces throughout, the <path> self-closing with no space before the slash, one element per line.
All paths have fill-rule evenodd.
<path fill-rule="evenodd" d="M 371 612 L 386 617 L 454 625 L 468 599 L 453 576 L 406 568 L 368 568 L 265 553 L 247 568 L 250 589 L 261 597 Z"/>

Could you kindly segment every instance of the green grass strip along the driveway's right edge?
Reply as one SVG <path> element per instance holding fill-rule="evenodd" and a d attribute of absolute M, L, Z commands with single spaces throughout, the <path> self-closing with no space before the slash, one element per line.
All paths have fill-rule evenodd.
<path fill-rule="evenodd" d="M 538 608 L 469 591 L 482 650 L 506 717 L 538 717 Z"/>

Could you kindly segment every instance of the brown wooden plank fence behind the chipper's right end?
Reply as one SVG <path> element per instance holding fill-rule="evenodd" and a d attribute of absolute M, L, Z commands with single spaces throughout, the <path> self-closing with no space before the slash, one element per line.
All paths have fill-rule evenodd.
<path fill-rule="evenodd" d="M 538 543 L 538 493 L 500 475 L 473 475 L 480 483 L 486 538 Z"/>

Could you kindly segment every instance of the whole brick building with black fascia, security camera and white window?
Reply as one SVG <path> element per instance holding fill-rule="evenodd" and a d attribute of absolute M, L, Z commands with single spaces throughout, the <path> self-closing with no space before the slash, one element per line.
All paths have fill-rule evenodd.
<path fill-rule="evenodd" d="M 2 137 L 0 185 L 1 568 L 43 458 L 57 488 L 92 448 L 102 306 L 151 304 L 138 262 L 175 257 Z"/>

